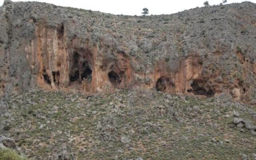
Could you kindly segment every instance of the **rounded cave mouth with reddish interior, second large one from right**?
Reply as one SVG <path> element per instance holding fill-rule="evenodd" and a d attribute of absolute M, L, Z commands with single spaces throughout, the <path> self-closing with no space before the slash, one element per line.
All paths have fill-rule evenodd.
<path fill-rule="evenodd" d="M 175 90 L 175 85 L 174 83 L 170 80 L 170 78 L 166 78 L 166 77 L 160 77 L 157 81 L 156 81 L 156 90 L 157 91 L 161 91 L 164 92 L 166 90 L 170 91 L 170 92 L 174 92 Z"/>

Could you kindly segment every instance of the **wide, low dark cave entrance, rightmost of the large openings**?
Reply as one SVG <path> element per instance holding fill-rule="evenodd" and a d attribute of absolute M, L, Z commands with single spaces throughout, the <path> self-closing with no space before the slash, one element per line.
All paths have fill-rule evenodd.
<path fill-rule="evenodd" d="M 187 90 L 188 92 L 192 92 L 196 95 L 206 96 L 206 97 L 213 97 L 214 91 L 209 87 L 204 87 L 202 82 L 198 80 L 194 80 L 191 84 L 192 89 Z"/>

